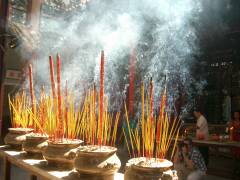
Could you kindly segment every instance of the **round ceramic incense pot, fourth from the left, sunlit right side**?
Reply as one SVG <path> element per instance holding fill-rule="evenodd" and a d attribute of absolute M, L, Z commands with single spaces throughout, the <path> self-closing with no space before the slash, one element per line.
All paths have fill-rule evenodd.
<path fill-rule="evenodd" d="M 82 146 L 76 152 L 74 167 L 80 176 L 89 179 L 113 179 L 121 167 L 116 151 L 111 146 Z"/>

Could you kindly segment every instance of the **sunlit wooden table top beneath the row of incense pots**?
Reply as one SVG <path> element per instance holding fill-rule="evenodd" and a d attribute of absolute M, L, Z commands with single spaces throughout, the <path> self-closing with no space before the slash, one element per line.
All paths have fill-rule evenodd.
<path fill-rule="evenodd" d="M 11 164 L 14 164 L 28 171 L 30 174 L 33 174 L 37 177 L 41 177 L 44 179 L 51 179 L 51 180 L 88 179 L 89 180 L 89 178 L 80 177 L 75 170 L 59 171 L 57 168 L 49 167 L 47 165 L 46 160 L 30 159 L 27 157 L 24 151 L 11 150 L 6 145 L 0 146 L 0 156 L 6 157 Z M 114 180 L 123 180 L 123 179 L 124 177 L 123 177 L 123 174 L 121 173 L 116 173 L 114 176 Z"/>

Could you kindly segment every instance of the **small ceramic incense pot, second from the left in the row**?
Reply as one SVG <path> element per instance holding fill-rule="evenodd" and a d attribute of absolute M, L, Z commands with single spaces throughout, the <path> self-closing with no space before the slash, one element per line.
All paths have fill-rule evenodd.
<path fill-rule="evenodd" d="M 36 158 L 42 158 L 42 151 L 47 147 L 48 136 L 38 133 L 26 135 L 26 141 L 23 142 L 22 148 L 28 155 Z"/>

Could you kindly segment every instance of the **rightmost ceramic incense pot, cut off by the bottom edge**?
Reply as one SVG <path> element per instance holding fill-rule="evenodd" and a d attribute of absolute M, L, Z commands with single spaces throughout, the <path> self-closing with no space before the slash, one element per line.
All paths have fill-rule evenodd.
<path fill-rule="evenodd" d="M 124 180 L 173 180 L 173 163 L 166 159 L 139 157 L 126 164 Z"/>

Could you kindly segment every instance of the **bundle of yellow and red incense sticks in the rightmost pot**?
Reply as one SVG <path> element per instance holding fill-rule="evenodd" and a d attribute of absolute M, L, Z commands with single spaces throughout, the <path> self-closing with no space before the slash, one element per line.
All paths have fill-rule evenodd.
<path fill-rule="evenodd" d="M 150 81 L 150 94 L 145 98 L 144 85 L 141 87 L 142 115 L 136 128 L 130 127 L 128 112 L 125 105 L 127 130 L 123 129 L 128 152 L 131 156 L 144 156 L 148 158 L 165 158 L 170 151 L 171 158 L 175 151 L 179 134 L 180 120 L 175 118 L 171 123 L 166 112 L 166 89 L 162 95 L 160 113 L 153 115 L 153 82 Z M 156 132 L 156 133 L 155 133 Z"/>

